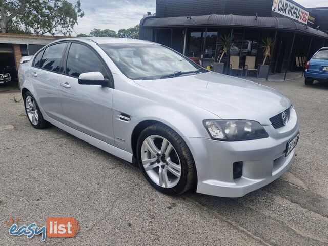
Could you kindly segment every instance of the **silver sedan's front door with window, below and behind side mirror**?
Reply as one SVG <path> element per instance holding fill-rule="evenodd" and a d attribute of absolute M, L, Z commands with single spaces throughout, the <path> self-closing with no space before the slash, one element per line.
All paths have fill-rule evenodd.
<path fill-rule="evenodd" d="M 78 84 L 78 76 L 87 72 L 101 72 L 108 79 L 110 76 L 106 65 L 90 47 L 71 43 L 66 76 L 59 83 L 64 124 L 114 145 L 113 88 Z"/>

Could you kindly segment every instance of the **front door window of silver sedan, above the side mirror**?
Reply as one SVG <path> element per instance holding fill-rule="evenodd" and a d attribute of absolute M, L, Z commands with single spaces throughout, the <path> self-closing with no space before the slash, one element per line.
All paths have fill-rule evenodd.
<path fill-rule="evenodd" d="M 89 47 L 72 43 L 67 56 L 66 74 L 78 78 L 81 73 L 88 72 L 100 72 L 109 79 L 105 65 Z"/>

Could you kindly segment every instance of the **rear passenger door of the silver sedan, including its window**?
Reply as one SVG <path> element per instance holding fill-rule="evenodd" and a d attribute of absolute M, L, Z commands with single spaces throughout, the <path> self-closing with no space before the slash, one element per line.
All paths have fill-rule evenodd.
<path fill-rule="evenodd" d="M 31 80 L 37 103 L 45 113 L 60 120 L 63 110 L 60 105 L 58 85 L 63 75 L 63 54 L 67 43 L 56 43 L 40 51 L 31 67 Z"/>

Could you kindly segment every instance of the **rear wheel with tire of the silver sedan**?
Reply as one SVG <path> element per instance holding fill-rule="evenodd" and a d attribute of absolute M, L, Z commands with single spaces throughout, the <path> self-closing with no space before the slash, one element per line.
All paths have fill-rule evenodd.
<path fill-rule="evenodd" d="M 34 96 L 29 91 L 24 94 L 24 107 L 26 116 L 32 127 L 36 129 L 42 129 L 49 126 L 48 121 L 43 118 L 40 108 L 34 99 Z"/>

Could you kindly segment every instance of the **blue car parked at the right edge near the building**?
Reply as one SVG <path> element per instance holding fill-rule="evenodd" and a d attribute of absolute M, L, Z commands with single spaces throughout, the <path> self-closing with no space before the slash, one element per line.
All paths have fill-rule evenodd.
<path fill-rule="evenodd" d="M 314 80 L 328 80 L 328 47 L 322 47 L 306 63 L 305 85 L 312 85 Z"/>

